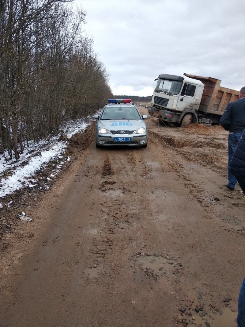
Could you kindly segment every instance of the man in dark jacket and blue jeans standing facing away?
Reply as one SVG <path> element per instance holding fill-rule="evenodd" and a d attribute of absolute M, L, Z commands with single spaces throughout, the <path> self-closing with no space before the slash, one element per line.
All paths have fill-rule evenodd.
<path fill-rule="evenodd" d="M 230 171 L 230 164 L 238 141 L 242 136 L 242 132 L 245 130 L 245 86 L 241 88 L 238 100 L 228 104 L 221 117 L 220 124 L 225 130 L 229 131 L 228 184 L 226 184 L 226 187 L 229 190 L 234 190 L 237 180 Z"/>

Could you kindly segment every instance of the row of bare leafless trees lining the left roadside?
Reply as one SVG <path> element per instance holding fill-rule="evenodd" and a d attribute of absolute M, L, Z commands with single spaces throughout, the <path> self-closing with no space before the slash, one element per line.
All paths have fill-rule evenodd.
<path fill-rule="evenodd" d="M 10 159 L 113 96 L 72 1 L 0 0 L 0 152 Z"/>

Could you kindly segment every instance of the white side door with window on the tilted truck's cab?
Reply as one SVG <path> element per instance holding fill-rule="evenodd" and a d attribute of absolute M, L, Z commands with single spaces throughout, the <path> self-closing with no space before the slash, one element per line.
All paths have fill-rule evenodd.
<path fill-rule="evenodd" d="M 196 109 L 195 108 L 196 87 L 197 85 L 184 83 L 181 94 L 179 96 L 179 100 L 177 102 L 176 110 L 183 111 L 185 108 Z"/>

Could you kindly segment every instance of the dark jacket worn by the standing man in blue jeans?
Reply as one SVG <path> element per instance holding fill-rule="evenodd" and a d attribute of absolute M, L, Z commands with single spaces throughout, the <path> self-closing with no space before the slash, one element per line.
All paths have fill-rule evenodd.
<path fill-rule="evenodd" d="M 245 129 L 245 97 L 228 104 L 220 124 L 225 130 L 233 133 L 242 133 Z"/>

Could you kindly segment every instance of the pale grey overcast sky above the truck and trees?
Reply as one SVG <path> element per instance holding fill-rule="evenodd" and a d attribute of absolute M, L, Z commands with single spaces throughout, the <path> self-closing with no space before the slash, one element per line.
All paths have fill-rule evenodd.
<path fill-rule="evenodd" d="M 245 86 L 244 0 L 75 0 L 114 95 L 152 95 L 160 74 Z"/>

